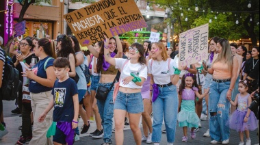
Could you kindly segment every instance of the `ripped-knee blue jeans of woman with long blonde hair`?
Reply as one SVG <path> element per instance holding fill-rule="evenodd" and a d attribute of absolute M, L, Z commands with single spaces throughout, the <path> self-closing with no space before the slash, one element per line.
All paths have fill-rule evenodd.
<path fill-rule="evenodd" d="M 225 124 L 229 120 L 229 101 L 226 92 L 229 90 L 230 81 L 217 83 L 212 81 L 209 86 L 209 134 L 211 140 L 223 141 L 229 139 L 229 127 Z M 218 105 L 224 105 L 218 107 Z M 213 115 L 217 113 L 217 115 Z"/>

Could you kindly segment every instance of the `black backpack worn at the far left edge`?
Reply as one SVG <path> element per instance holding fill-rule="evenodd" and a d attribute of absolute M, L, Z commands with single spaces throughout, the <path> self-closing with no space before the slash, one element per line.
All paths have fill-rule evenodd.
<path fill-rule="evenodd" d="M 18 97 L 19 90 L 23 83 L 19 80 L 18 70 L 12 66 L 12 60 L 6 56 L 5 51 L 3 51 L 3 53 L 5 56 L 5 64 L 0 93 L 3 100 L 14 101 Z"/>

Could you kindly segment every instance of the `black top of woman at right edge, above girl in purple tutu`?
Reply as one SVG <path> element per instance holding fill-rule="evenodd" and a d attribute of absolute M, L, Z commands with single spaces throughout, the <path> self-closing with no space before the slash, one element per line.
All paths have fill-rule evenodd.
<path fill-rule="evenodd" d="M 244 72 L 252 79 L 258 79 L 259 75 L 259 59 L 250 58 L 246 62 Z M 255 65 L 254 65 L 255 64 Z"/>

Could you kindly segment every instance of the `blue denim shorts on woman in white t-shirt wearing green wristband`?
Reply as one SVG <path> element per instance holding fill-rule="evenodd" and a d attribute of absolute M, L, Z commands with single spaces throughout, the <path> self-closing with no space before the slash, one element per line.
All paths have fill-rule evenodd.
<path fill-rule="evenodd" d="M 140 114 L 144 111 L 144 104 L 142 103 L 141 92 L 124 93 L 118 91 L 114 109 L 122 109 L 130 114 Z"/>

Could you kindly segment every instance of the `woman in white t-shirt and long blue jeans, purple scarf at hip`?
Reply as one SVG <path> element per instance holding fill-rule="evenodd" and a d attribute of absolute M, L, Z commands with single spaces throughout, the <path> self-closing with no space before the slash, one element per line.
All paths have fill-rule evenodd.
<path fill-rule="evenodd" d="M 164 44 L 155 42 L 151 49 L 152 59 L 148 62 L 148 74 L 151 74 L 153 85 L 153 135 L 152 141 L 158 145 L 161 141 L 161 124 L 166 124 L 168 145 L 175 140 L 175 129 L 178 113 L 178 96 L 176 84 L 179 81 L 180 70 L 168 57 Z M 181 68 L 181 67 L 180 67 Z M 155 96 L 155 92 L 159 92 Z M 157 97 L 155 99 L 155 97 Z"/>

